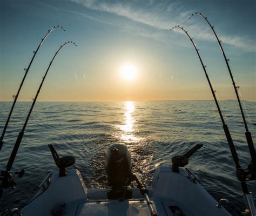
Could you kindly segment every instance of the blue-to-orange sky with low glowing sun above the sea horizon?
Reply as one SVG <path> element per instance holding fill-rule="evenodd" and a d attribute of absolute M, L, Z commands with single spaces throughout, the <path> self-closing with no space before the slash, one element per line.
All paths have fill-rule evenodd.
<path fill-rule="evenodd" d="M 0 0 L 0 100 L 13 100 L 41 38 L 18 100 L 31 101 L 49 62 L 39 101 L 212 100 L 189 38 L 220 100 L 235 99 L 207 16 L 222 41 L 241 98 L 256 101 L 254 0 Z"/>

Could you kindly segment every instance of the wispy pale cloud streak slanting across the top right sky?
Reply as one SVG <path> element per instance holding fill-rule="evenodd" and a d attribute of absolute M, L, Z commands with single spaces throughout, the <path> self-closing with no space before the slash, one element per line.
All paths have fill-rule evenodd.
<path fill-rule="evenodd" d="M 130 19 L 131 21 L 138 22 L 151 26 L 159 30 L 169 30 L 174 25 L 187 26 L 187 30 L 197 39 L 203 39 L 208 41 L 215 41 L 215 37 L 211 31 L 207 28 L 203 28 L 191 21 L 188 21 L 188 17 L 194 12 L 194 10 L 186 8 L 180 1 L 159 2 L 150 0 L 148 2 L 103 2 L 98 0 L 71 0 L 78 4 L 83 4 L 86 8 L 96 11 L 108 12 L 117 16 L 122 16 Z M 136 4 L 134 4 L 136 3 Z M 178 30 L 174 30 L 177 33 L 182 33 Z M 147 34 L 146 31 L 140 31 L 140 35 L 152 36 L 152 32 Z M 158 35 L 156 37 L 156 35 Z M 152 38 L 161 38 L 159 34 L 154 34 Z M 158 39 L 161 40 L 161 39 Z M 221 34 L 221 40 L 223 43 L 235 46 L 237 48 L 244 49 L 246 51 L 255 51 L 255 43 L 249 38 L 241 38 L 238 36 L 225 36 Z"/>

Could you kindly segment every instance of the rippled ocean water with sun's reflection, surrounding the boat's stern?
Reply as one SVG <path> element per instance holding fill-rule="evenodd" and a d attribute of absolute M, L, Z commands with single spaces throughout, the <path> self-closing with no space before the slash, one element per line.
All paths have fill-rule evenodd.
<path fill-rule="evenodd" d="M 0 102 L 0 132 L 12 102 Z M 226 124 L 237 148 L 240 164 L 250 161 L 237 101 L 221 102 Z M 245 102 L 248 127 L 256 142 L 256 103 Z M 0 152 L 0 170 L 5 166 L 22 130 L 30 102 L 18 102 Z M 104 188 L 105 152 L 113 142 L 125 143 L 131 151 L 133 171 L 147 185 L 159 165 L 170 165 L 174 155 L 196 144 L 204 144 L 187 165 L 201 179 L 200 184 L 216 200 L 226 198 L 244 208 L 234 163 L 213 100 L 164 102 L 37 102 L 19 147 L 12 172 L 25 169 L 16 178 L 16 190 L 4 191 L 0 211 L 21 207 L 37 191 L 46 174 L 58 172 L 48 144 L 61 156 L 76 157 L 87 187 Z M 248 183 L 255 199 L 255 181 Z"/>

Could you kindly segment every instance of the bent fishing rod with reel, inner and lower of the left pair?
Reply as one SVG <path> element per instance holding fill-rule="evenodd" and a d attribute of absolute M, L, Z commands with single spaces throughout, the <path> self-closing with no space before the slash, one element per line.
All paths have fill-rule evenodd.
<path fill-rule="evenodd" d="M 48 73 L 48 71 L 49 71 L 49 69 L 50 69 L 50 66 L 51 66 L 53 60 L 54 60 L 55 57 L 57 56 L 58 52 L 63 48 L 63 46 L 65 46 L 65 45 L 67 45 L 67 44 L 69 44 L 69 43 L 71 43 L 71 44 L 77 46 L 77 45 L 75 44 L 75 42 L 72 42 L 72 41 L 71 41 L 71 42 L 70 42 L 70 41 L 65 42 L 64 44 L 62 44 L 62 45 L 60 46 L 60 48 L 57 50 L 57 52 L 55 52 L 55 55 L 53 56 L 53 58 L 52 58 L 52 60 L 51 60 L 51 62 L 50 62 L 50 64 L 49 64 L 49 66 L 48 66 L 48 69 L 46 70 L 45 75 L 43 76 L 43 80 L 42 80 L 42 82 L 41 82 L 41 84 L 40 84 L 40 86 L 39 86 L 39 88 L 38 88 L 38 90 L 37 90 L 36 97 L 33 98 L 33 103 L 32 103 L 32 105 L 31 105 L 31 107 L 30 107 L 28 116 L 26 117 L 26 120 L 25 120 L 25 123 L 24 123 L 24 125 L 23 125 L 22 131 L 19 132 L 19 134 L 18 134 L 18 138 L 17 138 L 16 143 L 15 143 L 15 145 L 14 145 L 14 149 L 13 149 L 12 152 L 11 152 L 11 156 L 10 156 L 10 158 L 9 158 L 8 164 L 6 165 L 6 170 L 1 172 L 1 176 L 0 176 L 0 197 L 1 197 L 2 193 L 3 193 L 2 188 L 15 187 L 15 185 L 16 185 L 16 183 L 15 183 L 15 181 L 14 181 L 14 177 L 11 176 L 10 171 L 11 171 L 12 165 L 14 164 L 14 160 L 15 160 L 15 157 L 16 157 L 16 154 L 17 154 L 19 145 L 21 144 L 21 141 L 22 141 L 22 138 L 23 138 L 23 135 L 24 135 L 24 131 L 25 131 L 25 128 L 26 128 L 26 124 L 27 124 L 28 121 L 29 121 L 29 117 L 30 117 L 30 114 L 31 114 L 31 112 L 32 112 L 32 110 L 33 110 L 33 106 L 34 106 L 35 103 L 36 103 L 37 97 L 38 97 L 39 92 L 40 92 L 40 90 L 41 90 L 41 87 L 42 87 L 42 85 L 43 85 L 43 83 L 44 83 L 44 79 L 45 79 L 45 77 L 46 77 L 46 75 L 47 75 L 47 73 Z M 15 172 L 15 174 L 19 174 L 19 177 L 22 177 L 23 174 L 24 174 L 24 172 L 25 172 L 25 171 L 22 170 L 21 172 Z M 2 182 L 1 182 L 1 181 L 2 181 Z"/>

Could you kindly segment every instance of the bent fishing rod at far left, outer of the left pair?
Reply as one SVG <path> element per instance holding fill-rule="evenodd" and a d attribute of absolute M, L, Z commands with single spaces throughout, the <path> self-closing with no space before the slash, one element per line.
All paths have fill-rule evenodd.
<path fill-rule="evenodd" d="M 5 123 L 5 125 L 4 125 L 4 129 L 3 129 L 3 132 L 2 132 L 2 135 L 1 135 L 1 138 L 0 138 L 0 151 L 2 150 L 2 146 L 3 146 L 3 144 L 4 144 L 4 141 L 3 141 L 3 139 L 4 139 L 4 134 L 5 134 L 5 131 L 6 131 L 6 129 L 7 129 L 8 123 L 9 123 L 9 121 L 10 121 L 12 110 L 14 110 L 14 106 L 15 106 L 16 101 L 17 101 L 17 99 L 18 99 L 19 92 L 21 91 L 22 85 L 23 85 L 23 83 L 24 83 L 24 80 L 25 80 L 25 78 L 26 78 L 26 75 L 27 75 L 28 72 L 29 72 L 29 69 L 30 69 L 30 66 L 31 66 L 31 64 L 32 64 L 32 62 L 33 62 L 33 59 L 35 58 L 37 51 L 39 50 L 40 46 L 43 44 L 43 42 L 44 42 L 44 40 L 46 39 L 46 37 L 47 37 L 53 30 L 55 30 L 56 28 L 59 28 L 59 27 L 60 27 L 63 31 L 65 31 L 65 30 L 63 29 L 63 27 L 62 27 L 62 26 L 59 26 L 59 25 L 53 26 L 50 30 L 48 30 L 48 32 L 46 33 L 46 35 L 41 39 L 41 42 L 39 43 L 39 45 L 38 45 L 36 51 L 33 51 L 34 55 L 33 55 L 32 59 L 31 59 L 31 61 L 30 61 L 30 63 L 29 63 L 28 68 L 25 68 L 25 69 L 24 69 L 25 74 L 24 74 L 24 77 L 23 77 L 23 79 L 22 79 L 21 85 L 19 85 L 18 92 L 17 92 L 16 95 L 13 95 L 13 96 L 12 96 L 12 98 L 14 98 L 14 103 L 12 103 L 9 116 L 8 116 L 8 118 L 7 118 L 7 120 L 6 120 L 6 123 Z"/>

